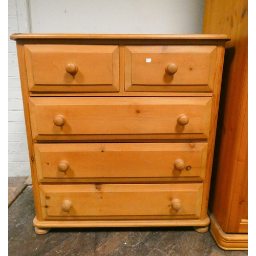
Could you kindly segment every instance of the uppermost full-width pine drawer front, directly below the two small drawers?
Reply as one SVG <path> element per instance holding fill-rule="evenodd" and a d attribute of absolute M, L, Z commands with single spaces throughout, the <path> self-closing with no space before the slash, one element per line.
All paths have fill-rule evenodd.
<path fill-rule="evenodd" d="M 211 97 L 46 97 L 30 98 L 29 108 L 36 140 L 106 139 L 108 135 L 112 139 L 122 135 L 205 139 Z"/>

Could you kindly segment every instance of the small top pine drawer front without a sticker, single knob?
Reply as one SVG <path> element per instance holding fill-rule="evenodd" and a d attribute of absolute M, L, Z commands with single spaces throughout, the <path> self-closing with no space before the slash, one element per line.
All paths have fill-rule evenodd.
<path fill-rule="evenodd" d="M 25 45 L 30 91 L 117 92 L 119 47 Z"/>

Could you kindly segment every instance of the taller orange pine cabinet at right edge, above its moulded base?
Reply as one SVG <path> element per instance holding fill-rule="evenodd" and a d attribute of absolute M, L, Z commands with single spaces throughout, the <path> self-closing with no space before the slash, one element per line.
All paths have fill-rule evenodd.
<path fill-rule="evenodd" d="M 226 43 L 209 206 L 224 232 L 248 232 L 247 1 L 205 1 L 203 33 L 231 38 Z"/>

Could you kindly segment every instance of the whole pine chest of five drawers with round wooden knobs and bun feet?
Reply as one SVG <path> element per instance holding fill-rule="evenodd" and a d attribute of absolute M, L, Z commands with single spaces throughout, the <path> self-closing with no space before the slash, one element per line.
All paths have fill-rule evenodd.
<path fill-rule="evenodd" d="M 225 35 L 13 34 L 35 231 L 208 229 Z"/>

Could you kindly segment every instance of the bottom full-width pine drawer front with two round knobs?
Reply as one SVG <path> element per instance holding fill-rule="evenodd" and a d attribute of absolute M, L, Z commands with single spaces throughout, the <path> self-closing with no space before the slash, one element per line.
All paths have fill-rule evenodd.
<path fill-rule="evenodd" d="M 203 184 L 40 185 L 44 219 L 199 218 Z"/>

